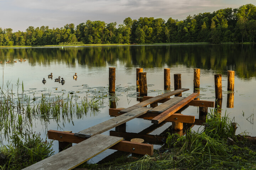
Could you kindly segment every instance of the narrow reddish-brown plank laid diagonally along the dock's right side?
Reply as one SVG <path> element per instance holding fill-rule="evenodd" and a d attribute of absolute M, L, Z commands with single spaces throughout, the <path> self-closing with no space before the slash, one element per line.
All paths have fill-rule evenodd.
<path fill-rule="evenodd" d="M 198 93 L 193 93 L 190 96 L 186 97 L 184 100 L 178 102 L 173 107 L 167 109 L 166 111 L 162 112 L 161 114 L 154 117 L 151 122 L 159 124 L 162 121 L 164 121 L 166 118 L 170 117 L 170 115 L 174 114 L 176 111 L 178 111 L 180 108 L 185 106 L 188 102 L 192 101 L 194 98 L 198 96 Z"/>

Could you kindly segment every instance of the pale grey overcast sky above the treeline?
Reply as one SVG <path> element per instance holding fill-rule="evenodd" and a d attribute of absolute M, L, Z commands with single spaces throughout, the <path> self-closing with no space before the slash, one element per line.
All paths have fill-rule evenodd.
<path fill-rule="evenodd" d="M 0 27 L 13 32 L 29 26 L 75 27 L 86 20 L 123 23 L 127 17 L 183 20 L 188 15 L 213 12 L 241 5 L 256 5 L 256 0 L 0 0 Z"/>

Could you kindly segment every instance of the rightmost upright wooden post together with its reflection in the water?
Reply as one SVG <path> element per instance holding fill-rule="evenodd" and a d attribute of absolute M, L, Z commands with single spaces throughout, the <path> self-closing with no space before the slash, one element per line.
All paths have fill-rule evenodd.
<path fill-rule="evenodd" d="M 228 91 L 234 91 L 235 71 L 228 70 Z M 234 108 L 234 93 L 228 93 L 227 108 Z"/>

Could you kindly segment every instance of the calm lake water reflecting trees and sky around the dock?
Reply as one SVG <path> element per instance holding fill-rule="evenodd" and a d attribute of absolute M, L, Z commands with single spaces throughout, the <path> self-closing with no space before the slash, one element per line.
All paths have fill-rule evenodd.
<path fill-rule="evenodd" d="M 18 59 L 25 62 L 18 62 Z M 11 63 L 5 63 L 10 60 Z M 108 67 L 116 67 L 117 107 L 129 107 L 136 100 L 136 68 L 143 68 L 147 74 L 148 96 L 164 93 L 164 68 L 170 68 L 171 90 L 174 90 L 173 74 L 181 73 L 183 88 L 193 93 L 193 68 L 201 69 L 200 98 L 214 101 L 214 74 L 222 74 L 223 104 L 222 114 L 229 114 L 238 123 L 236 134 L 249 132 L 256 136 L 254 113 L 256 112 L 256 46 L 253 45 L 148 45 L 148 46 L 90 46 L 90 47 L 40 47 L 40 48 L 2 48 L 0 49 L 0 86 L 12 87 L 17 91 L 17 80 L 23 82 L 27 95 L 40 99 L 42 94 L 51 96 L 73 92 L 75 98 L 97 96 L 103 101 L 100 112 L 84 114 L 82 118 L 73 117 L 71 121 L 50 119 L 43 122 L 34 119 L 32 131 L 41 132 L 46 137 L 47 130 L 65 130 L 78 132 L 93 125 L 111 119 L 108 115 L 108 97 L 102 98 L 108 91 Z M 17 63 L 13 62 L 17 61 Z M 235 71 L 234 108 L 226 108 L 227 70 Z M 53 79 L 48 74 L 53 73 Z M 76 80 L 74 73 L 78 74 Z M 55 78 L 64 78 L 65 84 L 54 82 Z M 42 83 L 43 78 L 46 84 Z M 21 91 L 21 87 L 19 89 Z M 78 99 L 79 100 L 79 99 Z M 208 110 L 209 111 L 209 110 Z M 188 107 L 182 114 L 198 118 L 198 107 Z M 127 132 L 140 132 L 151 125 L 151 121 L 134 119 L 127 123 Z M 150 134 L 160 134 L 171 123 Z M 194 126 L 197 130 L 199 126 Z M 108 135 L 109 132 L 104 134 Z M 158 146 L 155 146 L 158 147 Z M 54 141 L 54 151 L 58 151 L 58 142 Z M 97 162 L 114 151 L 108 149 L 91 162 Z"/>

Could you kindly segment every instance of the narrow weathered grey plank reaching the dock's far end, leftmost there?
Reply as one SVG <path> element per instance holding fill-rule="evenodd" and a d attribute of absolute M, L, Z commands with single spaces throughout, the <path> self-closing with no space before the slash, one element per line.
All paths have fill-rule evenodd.
<path fill-rule="evenodd" d="M 150 98 L 150 99 L 145 100 L 145 101 L 143 101 L 143 102 L 140 102 L 140 103 L 138 103 L 138 104 L 135 104 L 135 105 L 133 105 L 133 106 L 131 106 L 131 107 L 128 107 L 128 108 L 126 108 L 126 109 L 123 109 L 121 112 L 122 112 L 122 113 L 130 112 L 130 111 L 132 111 L 132 110 L 135 109 L 135 108 L 147 106 L 148 104 L 157 102 L 157 101 L 162 100 L 162 99 L 164 99 L 164 98 L 166 98 L 166 97 L 170 97 L 170 96 L 179 94 L 179 93 L 184 92 L 184 91 L 187 91 L 187 90 L 189 90 L 189 89 L 184 89 L 184 88 L 182 88 L 182 89 L 174 90 L 174 91 L 171 91 L 171 92 L 168 92 L 168 93 L 165 93 L 165 94 L 162 94 L 162 95 L 159 95 L 159 96 Z"/>

